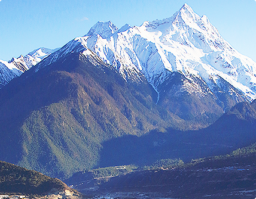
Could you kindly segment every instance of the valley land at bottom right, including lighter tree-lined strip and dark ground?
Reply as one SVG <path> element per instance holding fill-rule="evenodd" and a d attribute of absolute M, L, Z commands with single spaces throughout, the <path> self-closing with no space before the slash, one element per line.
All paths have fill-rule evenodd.
<path fill-rule="evenodd" d="M 255 198 L 255 151 L 254 143 L 223 156 L 105 167 L 66 181 L 95 198 Z"/>

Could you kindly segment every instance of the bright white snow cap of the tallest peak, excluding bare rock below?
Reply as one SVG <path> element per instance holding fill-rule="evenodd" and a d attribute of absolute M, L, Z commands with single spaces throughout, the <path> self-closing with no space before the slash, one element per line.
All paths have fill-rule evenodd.
<path fill-rule="evenodd" d="M 50 62 L 87 49 L 126 80 L 143 74 L 157 92 L 169 73 L 178 72 L 190 80 L 202 79 L 213 93 L 224 80 L 249 100 L 256 98 L 256 63 L 225 41 L 206 15 L 200 17 L 187 4 L 172 17 L 141 26 L 118 29 L 111 21 L 99 21 L 85 36 L 56 51 Z"/>

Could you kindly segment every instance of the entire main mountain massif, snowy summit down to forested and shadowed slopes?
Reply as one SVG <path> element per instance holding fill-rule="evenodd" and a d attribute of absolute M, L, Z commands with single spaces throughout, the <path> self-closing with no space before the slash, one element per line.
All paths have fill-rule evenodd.
<path fill-rule="evenodd" d="M 256 64 L 187 4 L 139 27 L 100 21 L 41 58 L 0 89 L 0 160 L 65 179 L 256 142 Z"/>

